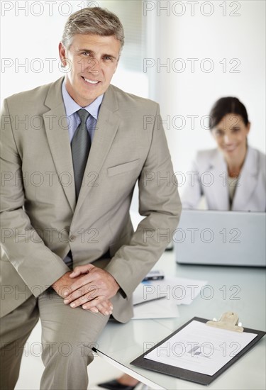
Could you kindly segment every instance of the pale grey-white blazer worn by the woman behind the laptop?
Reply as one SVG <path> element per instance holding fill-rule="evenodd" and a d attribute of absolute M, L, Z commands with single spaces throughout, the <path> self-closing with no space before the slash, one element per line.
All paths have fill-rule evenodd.
<path fill-rule="evenodd" d="M 201 196 L 205 196 L 208 209 L 229 210 L 227 174 L 226 162 L 218 149 L 199 151 L 187 175 L 186 188 L 182 194 L 182 206 L 196 208 Z M 238 183 L 233 182 L 233 184 L 238 185 L 231 210 L 265 211 L 265 155 L 253 147 L 248 147 Z"/>

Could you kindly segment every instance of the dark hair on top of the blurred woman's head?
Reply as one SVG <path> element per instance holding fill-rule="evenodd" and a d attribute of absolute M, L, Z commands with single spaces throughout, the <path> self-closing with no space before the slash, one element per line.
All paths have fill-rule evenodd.
<path fill-rule="evenodd" d="M 235 113 L 236 115 L 240 115 L 243 118 L 243 122 L 245 126 L 248 125 L 248 113 L 243 103 L 235 97 L 225 97 L 218 99 L 214 104 L 213 108 L 211 108 L 211 113 L 209 117 L 209 128 L 212 130 L 214 127 L 221 122 L 223 116 L 228 113 Z"/>

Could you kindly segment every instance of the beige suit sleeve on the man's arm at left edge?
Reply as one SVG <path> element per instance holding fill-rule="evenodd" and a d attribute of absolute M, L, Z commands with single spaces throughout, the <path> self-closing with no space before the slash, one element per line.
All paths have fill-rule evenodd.
<path fill-rule="evenodd" d="M 1 111 L 2 261 L 10 261 L 28 288 L 38 296 L 70 269 L 45 246 L 25 211 L 23 182 L 18 179 L 22 177 L 23 157 L 13 137 L 12 118 L 8 103 L 4 101 Z"/>

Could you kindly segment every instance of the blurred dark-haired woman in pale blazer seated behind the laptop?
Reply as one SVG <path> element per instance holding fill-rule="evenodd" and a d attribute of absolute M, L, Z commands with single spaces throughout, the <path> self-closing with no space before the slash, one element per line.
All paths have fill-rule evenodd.
<path fill-rule="evenodd" d="M 182 196 L 196 208 L 205 196 L 210 210 L 265 211 L 265 154 L 248 145 L 250 122 L 235 97 L 218 99 L 209 127 L 217 147 L 197 152 Z"/>

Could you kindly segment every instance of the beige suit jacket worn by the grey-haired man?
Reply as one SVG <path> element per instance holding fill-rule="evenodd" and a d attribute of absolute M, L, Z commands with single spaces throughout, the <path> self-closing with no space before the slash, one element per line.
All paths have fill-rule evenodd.
<path fill-rule="evenodd" d="M 181 204 L 159 106 L 110 86 L 96 123 L 84 183 L 75 201 L 62 79 L 4 101 L 2 112 L 1 314 L 39 296 L 74 266 L 109 251 L 105 267 L 121 286 L 113 316 L 133 315 L 131 295 L 167 246 Z M 133 232 L 129 208 L 135 182 L 140 214 Z"/>

